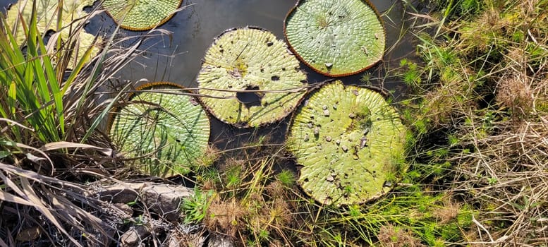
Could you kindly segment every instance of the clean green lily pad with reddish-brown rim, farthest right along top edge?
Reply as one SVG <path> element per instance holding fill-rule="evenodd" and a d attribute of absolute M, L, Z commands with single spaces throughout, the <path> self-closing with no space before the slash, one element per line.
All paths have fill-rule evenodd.
<path fill-rule="evenodd" d="M 284 32 L 298 58 L 326 76 L 365 71 L 384 54 L 382 20 L 367 0 L 301 0 Z"/>

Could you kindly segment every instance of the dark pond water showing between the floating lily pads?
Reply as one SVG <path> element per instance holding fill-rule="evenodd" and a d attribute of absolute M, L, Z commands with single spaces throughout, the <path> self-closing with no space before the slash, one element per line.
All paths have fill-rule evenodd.
<path fill-rule="evenodd" d="M 0 0 L 0 8 L 13 3 L 13 0 Z M 346 85 L 367 85 L 388 91 L 395 101 L 405 96 L 406 87 L 394 76 L 400 59 L 412 57 L 415 47 L 406 35 L 405 6 L 402 1 L 372 0 L 372 4 L 382 14 L 386 28 L 386 53 L 384 61 L 355 76 L 339 78 Z M 418 2 L 418 1 L 414 1 Z M 142 52 L 134 61 L 118 74 L 121 80 L 171 81 L 187 88 L 196 88 L 195 78 L 200 71 L 202 58 L 215 37 L 229 28 L 246 25 L 270 30 L 280 40 L 284 39 L 283 23 L 288 11 L 295 5 L 293 0 L 189 0 L 186 6 L 160 28 L 171 32 L 170 35 L 157 35 L 148 38 L 140 47 Z M 97 3 L 96 3 L 97 5 Z M 418 4 L 413 4 L 417 6 Z M 91 9 L 91 8 L 90 8 Z M 95 16 L 85 28 L 92 34 L 109 35 L 116 29 L 113 20 L 102 13 Z M 149 32 L 119 30 L 119 37 L 142 37 Z M 128 46 L 135 39 L 124 41 Z M 330 80 L 301 65 L 308 74 L 309 83 Z M 252 104 L 254 95 L 239 95 L 240 100 Z M 247 99 L 246 99 L 247 98 Z M 256 99 L 255 99 L 256 101 Z M 257 142 L 259 138 L 269 137 L 270 143 L 283 143 L 288 118 L 273 123 L 269 128 L 238 129 L 227 126 L 212 117 L 212 143 L 221 150 L 241 147 L 245 143 Z"/>

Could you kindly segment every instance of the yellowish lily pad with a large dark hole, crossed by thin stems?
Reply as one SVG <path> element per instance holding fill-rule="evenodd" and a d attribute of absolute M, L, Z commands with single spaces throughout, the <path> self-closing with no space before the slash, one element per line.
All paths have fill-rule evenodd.
<path fill-rule="evenodd" d="M 202 102 L 238 127 L 284 118 L 305 94 L 306 75 L 284 42 L 266 30 L 227 30 L 205 54 L 197 77 Z"/>

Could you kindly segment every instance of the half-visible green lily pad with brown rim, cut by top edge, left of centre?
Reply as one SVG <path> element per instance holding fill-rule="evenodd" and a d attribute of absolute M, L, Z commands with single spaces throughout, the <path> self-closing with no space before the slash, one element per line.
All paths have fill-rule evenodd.
<path fill-rule="evenodd" d="M 103 7 L 122 28 L 149 30 L 166 23 L 183 0 L 105 0 Z"/>

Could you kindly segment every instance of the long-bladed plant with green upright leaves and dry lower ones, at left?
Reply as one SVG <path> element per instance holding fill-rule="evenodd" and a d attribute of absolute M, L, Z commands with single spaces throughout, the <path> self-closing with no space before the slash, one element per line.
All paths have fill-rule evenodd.
<path fill-rule="evenodd" d="M 109 140 L 96 131 L 109 104 L 95 95 L 130 61 L 135 47 L 116 49 L 113 56 L 106 47 L 108 58 L 94 64 L 71 58 L 77 35 L 59 46 L 55 36 L 44 43 L 36 7 L 46 1 L 28 2 L 35 6 L 23 11 L 30 16 L 22 12 L 16 18 L 19 28 L 0 18 L 0 228 L 5 229 L 0 246 L 86 246 L 83 236 L 87 243 L 105 246 L 102 236 L 109 230 L 92 211 L 113 208 L 85 195 L 84 183 L 92 178 L 80 175 L 114 167 Z M 83 25 L 73 23 L 72 28 Z M 24 40 L 17 41 L 12 30 L 25 30 Z M 71 59 L 76 61 L 67 70 Z"/>

